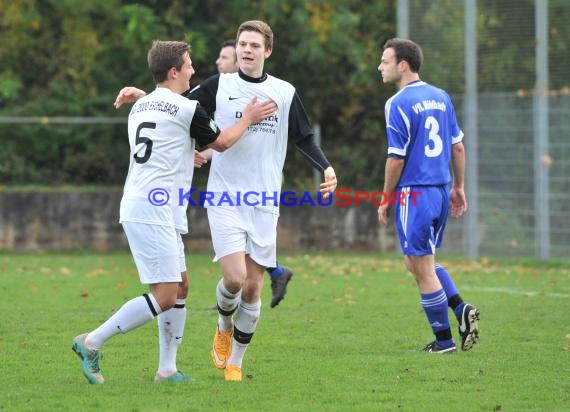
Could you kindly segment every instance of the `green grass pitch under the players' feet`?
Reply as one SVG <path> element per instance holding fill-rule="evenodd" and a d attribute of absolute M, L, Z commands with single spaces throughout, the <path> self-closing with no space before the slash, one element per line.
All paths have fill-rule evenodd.
<path fill-rule="evenodd" d="M 1 253 L 0 411 L 570 410 L 569 262 L 443 259 L 481 310 L 481 340 L 440 356 L 417 351 L 433 335 L 399 256 L 281 260 L 295 277 L 275 309 L 266 279 L 242 383 L 211 365 L 219 272 L 190 254 L 178 366 L 196 382 L 152 382 L 152 322 L 107 342 L 106 383 L 91 386 L 71 340 L 146 291 L 130 255 Z"/>

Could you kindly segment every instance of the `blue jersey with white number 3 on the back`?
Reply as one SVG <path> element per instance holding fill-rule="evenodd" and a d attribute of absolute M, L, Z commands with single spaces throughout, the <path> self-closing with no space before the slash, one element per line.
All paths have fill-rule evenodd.
<path fill-rule="evenodd" d="M 451 183 L 451 146 L 463 132 L 449 95 L 417 80 L 392 96 L 385 112 L 388 155 L 405 159 L 398 186 Z"/>

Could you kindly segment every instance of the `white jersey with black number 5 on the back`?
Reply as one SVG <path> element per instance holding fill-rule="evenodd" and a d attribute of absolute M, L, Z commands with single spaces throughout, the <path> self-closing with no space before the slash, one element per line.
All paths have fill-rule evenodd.
<path fill-rule="evenodd" d="M 130 163 L 120 222 L 171 226 L 188 231 L 178 186 L 190 189 L 196 141 L 208 145 L 219 128 L 195 100 L 159 87 L 129 113 Z"/>

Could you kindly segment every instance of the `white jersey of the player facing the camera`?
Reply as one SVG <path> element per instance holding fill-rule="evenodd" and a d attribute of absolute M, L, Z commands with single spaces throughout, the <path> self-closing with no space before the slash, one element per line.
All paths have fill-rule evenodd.
<path fill-rule="evenodd" d="M 240 74 L 219 75 L 214 119 L 221 129 L 239 121 L 245 106 L 253 97 L 257 97 L 258 103 L 272 99 L 278 109 L 275 115 L 251 125 L 230 149 L 222 153 L 214 152 L 208 191 L 227 193 L 232 199 L 240 194 L 243 196 L 246 192 L 259 193 L 259 199 L 262 193 L 267 196 L 276 193 L 276 198 L 279 199 L 287 153 L 289 110 L 295 88 L 271 75 L 251 79 L 243 78 L 244 75 Z M 279 210 L 272 201 L 259 202 L 256 207 L 276 214 Z"/>

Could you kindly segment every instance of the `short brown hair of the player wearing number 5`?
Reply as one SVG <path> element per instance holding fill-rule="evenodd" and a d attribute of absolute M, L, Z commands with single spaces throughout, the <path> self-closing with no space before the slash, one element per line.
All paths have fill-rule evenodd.
<path fill-rule="evenodd" d="M 155 40 L 147 54 L 148 68 L 156 84 L 168 78 L 171 68 L 181 70 L 184 55 L 190 54 L 190 45 L 182 41 Z"/>

